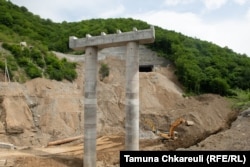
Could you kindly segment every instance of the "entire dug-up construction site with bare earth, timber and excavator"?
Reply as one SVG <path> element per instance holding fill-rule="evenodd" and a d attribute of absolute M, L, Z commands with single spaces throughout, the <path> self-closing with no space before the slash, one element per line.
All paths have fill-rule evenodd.
<path fill-rule="evenodd" d="M 102 50 L 97 76 L 97 166 L 119 166 L 125 150 L 125 52 Z M 83 166 L 84 60 L 74 82 L 0 75 L 0 167 Z M 141 57 L 144 56 L 144 59 Z M 214 94 L 185 96 L 174 66 L 140 46 L 139 150 L 250 150 L 250 112 Z M 158 63 L 161 62 L 161 63 Z"/>

